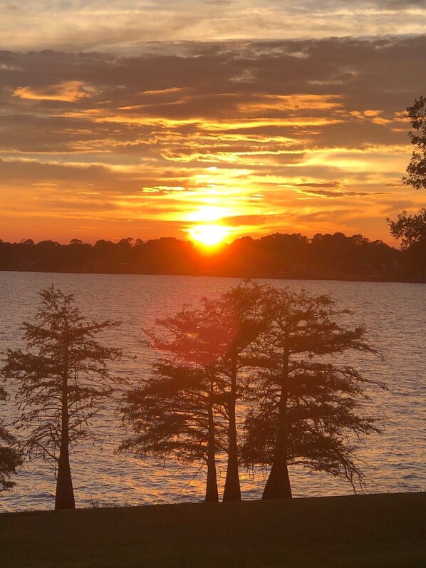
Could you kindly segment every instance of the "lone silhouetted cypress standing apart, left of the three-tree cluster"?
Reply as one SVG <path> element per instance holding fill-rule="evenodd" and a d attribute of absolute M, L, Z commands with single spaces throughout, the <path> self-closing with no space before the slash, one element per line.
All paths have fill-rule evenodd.
<path fill-rule="evenodd" d="M 21 443 L 29 458 L 48 460 L 57 471 L 56 509 L 75 507 L 70 450 L 93 438 L 89 424 L 113 393 L 118 379 L 108 361 L 122 356 L 101 346 L 95 336 L 118 322 L 87 322 L 74 305 L 73 294 L 42 289 L 36 323 L 24 321 L 26 351 L 9 349 L 2 373 L 18 385 Z"/>

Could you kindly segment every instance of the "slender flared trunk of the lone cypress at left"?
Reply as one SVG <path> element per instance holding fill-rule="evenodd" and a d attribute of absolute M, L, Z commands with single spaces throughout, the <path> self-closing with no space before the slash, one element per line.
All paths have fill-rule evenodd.
<path fill-rule="evenodd" d="M 55 509 L 75 509 L 73 480 L 69 458 L 68 417 L 68 358 L 64 361 L 61 409 L 61 447 L 59 448 L 58 477 L 56 479 Z"/>

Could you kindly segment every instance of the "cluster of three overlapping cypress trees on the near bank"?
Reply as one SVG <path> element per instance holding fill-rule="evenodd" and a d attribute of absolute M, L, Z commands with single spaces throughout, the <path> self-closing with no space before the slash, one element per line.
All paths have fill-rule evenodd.
<path fill-rule="evenodd" d="M 380 433 L 365 387 L 385 387 L 346 360 L 377 354 L 349 316 L 329 296 L 244 282 L 157 320 L 161 356 L 125 397 L 134 434 L 120 449 L 207 464 L 206 500 L 218 500 L 218 453 L 224 500 L 241 498 L 239 465 L 271 468 L 264 498 L 291 497 L 293 464 L 362 487 L 358 443 Z"/>

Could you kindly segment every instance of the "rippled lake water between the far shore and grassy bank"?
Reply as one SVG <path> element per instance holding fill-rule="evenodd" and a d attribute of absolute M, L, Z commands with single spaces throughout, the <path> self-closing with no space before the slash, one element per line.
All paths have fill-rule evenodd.
<path fill-rule="evenodd" d="M 132 381 L 149 372 L 153 353 L 143 346 L 142 328 L 158 316 L 174 314 L 182 304 L 195 304 L 201 296 L 217 296 L 238 279 L 167 277 L 109 274 L 38 274 L 0 272 L 0 351 L 22 346 L 22 321 L 32 318 L 38 305 L 37 291 L 54 284 L 76 296 L 89 319 L 119 319 L 120 329 L 105 331 L 104 343 L 125 349 L 137 360 L 120 363 L 120 373 Z M 275 286 L 303 286 L 314 294 L 332 294 L 336 304 L 355 312 L 352 324 L 365 324 L 370 340 L 380 348 L 385 362 L 360 357 L 355 363 L 366 376 L 384 381 L 389 392 L 372 391 L 368 412 L 383 418 L 385 433 L 370 436 L 360 448 L 368 475 L 368 492 L 426 490 L 424 423 L 426 285 L 332 281 L 261 281 Z M 349 317 L 349 316 L 348 316 Z M 351 361 L 353 362 L 353 361 Z M 11 386 L 8 387 L 11 391 Z M 1 403 L 0 415 L 11 420 L 14 410 Z M 100 443 L 80 445 L 71 456 L 78 507 L 90 505 L 141 505 L 156 502 L 202 500 L 204 477 L 197 470 L 176 463 L 158 464 L 115 455 L 125 431 L 115 409 L 99 415 L 95 430 Z M 219 464 L 220 484 L 224 464 Z M 53 507 L 53 470 L 43 462 L 21 470 L 11 492 L 0 497 L 0 511 Z M 261 495 L 264 477 L 254 479 L 241 470 L 243 498 Z M 293 495 L 344 495 L 348 483 L 322 473 L 291 469 Z"/>

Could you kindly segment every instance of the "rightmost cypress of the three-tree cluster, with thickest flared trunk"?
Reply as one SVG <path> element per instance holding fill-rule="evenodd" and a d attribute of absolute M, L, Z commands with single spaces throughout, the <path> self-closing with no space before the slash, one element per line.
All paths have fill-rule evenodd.
<path fill-rule="evenodd" d="M 362 482 L 356 441 L 379 431 L 363 413 L 363 387 L 378 383 L 333 357 L 375 353 L 365 329 L 340 323 L 348 312 L 334 309 L 328 296 L 269 289 L 266 301 L 271 319 L 253 351 L 256 404 L 246 418 L 243 462 L 271 466 L 264 499 L 291 497 L 294 463 Z"/>

